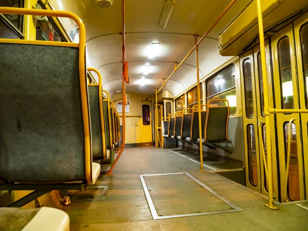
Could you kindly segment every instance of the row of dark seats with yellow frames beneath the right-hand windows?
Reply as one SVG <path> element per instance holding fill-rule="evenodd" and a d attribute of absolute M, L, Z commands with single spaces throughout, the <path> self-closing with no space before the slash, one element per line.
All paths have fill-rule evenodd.
<path fill-rule="evenodd" d="M 228 142 L 229 103 L 225 99 L 209 100 L 201 105 L 202 143 L 210 148 Z M 163 123 L 163 137 L 200 145 L 198 105 L 171 113 Z M 213 144 L 215 147 L 213 147 Z"/>

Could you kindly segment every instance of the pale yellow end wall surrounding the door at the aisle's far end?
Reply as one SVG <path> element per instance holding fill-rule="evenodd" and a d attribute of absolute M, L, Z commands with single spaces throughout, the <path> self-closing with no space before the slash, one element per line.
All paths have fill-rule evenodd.
<path fill-rule="evenodd" d="M 111 98 L 113 105 L 118 109 L 118 102 L 122 102 L 122 93 L 114 94 Z M 142 104 L 143 102 L 152 102 L 152 95 L 137 94 L 134 92 L 127 93 L 127 101 L 129 102 L 129 112 L 125 113 L 125 143 L 141 144 L 142 143 Z M 122 107 L 122 105 L 121 105 Z M 119 111 L 119 109 L 118 109 Z M 154 126 L 152 113 L 153 105 L 150 106 L 152 126 Z M 122 125 L 122 113 L 120 114 L 120 124 Z M 152 136 L 152 134 L 151 134 Z M 152 141 L 154 141 L 152 136 Z"/>

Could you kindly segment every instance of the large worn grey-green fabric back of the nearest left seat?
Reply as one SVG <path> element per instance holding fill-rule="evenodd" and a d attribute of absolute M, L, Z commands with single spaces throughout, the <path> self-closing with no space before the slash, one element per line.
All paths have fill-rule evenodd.
<path fill-rule="evenodd" d="M 85 179 L 79 49 L 0 43 L 0 50 L 0 178 Z"/>

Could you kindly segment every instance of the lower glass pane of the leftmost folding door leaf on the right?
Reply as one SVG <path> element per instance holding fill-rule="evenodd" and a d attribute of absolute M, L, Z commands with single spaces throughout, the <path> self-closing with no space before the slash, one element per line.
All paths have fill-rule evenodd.
<path fill-rule="evenodd" d="M 257 150 L 256 150 L 256 132 L 255 126 L 250 124 L 247 126 L 247 148 L 248 148 L 248 171 L 249 182 L 253 186 L 258 185 L 257 172 Z"/>

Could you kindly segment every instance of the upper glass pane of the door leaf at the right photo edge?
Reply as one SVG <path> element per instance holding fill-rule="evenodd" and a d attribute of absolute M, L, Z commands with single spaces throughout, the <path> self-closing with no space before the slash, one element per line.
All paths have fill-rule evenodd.
<path fill-rule="evenodd" d="M 306 90 L 306 108 L 308 108 L 308 24 L 304 25 L 300 30 L 302 59 L 303 59 L 303 72 Z"/>

